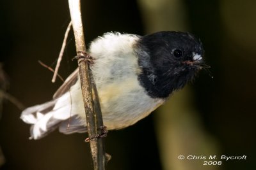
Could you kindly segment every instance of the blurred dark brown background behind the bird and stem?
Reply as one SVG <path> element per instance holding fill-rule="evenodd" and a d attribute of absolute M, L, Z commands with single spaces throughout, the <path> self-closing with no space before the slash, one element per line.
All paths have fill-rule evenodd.
<path fill-rule="evenodd" d="M 25 106 L 52 98 L 61 81 L 38 64 L 54 67 L 70 21 L 67 1 L 0 2 L 0 169 L 92 169 L 87 134 L 58 131 L 29 140 L 29 125 L 8 97 Z M 211 66 L 136 125 L 110 131 L 108 169 L 256 169 L 256 1 L 82 1 L 86 43 L 108 31 L 148 34 L 189 31 L 204 44 Z M 76 68 L 68 38 L 60 74 Z M 211 78 L 213 76 L 214 78 Z M 246 155 L 203 166 L 179 155 Z"/>

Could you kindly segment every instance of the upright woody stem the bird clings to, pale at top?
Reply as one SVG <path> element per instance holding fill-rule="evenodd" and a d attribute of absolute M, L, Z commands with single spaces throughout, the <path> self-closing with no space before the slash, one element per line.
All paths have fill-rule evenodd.
<path fill-rule="evenodd" d="M 70 15 L 76 41 L 77 56 L 85 52 L 86 46 L 84 43 L 83 24 L 81 19 L 80 0 L 68 0 Z M 88 62 L 83 59 L 77 59 L 79 66 L 79 76 L 81 80 L 81 89 L 83 93 L 84 110 L 86 113 L 86 123 L 89 138 L 97 135 L 97 129 L 103 127 L 102 115 L 100 111 L 99 97 L 97 89 L 93 82 L 93 76 L 90 74 Z M 94 104 L 94 105 L 93 105 Z M 95 112 L 97 111 L 97 112 Z M 92 159 L 94 169 L 106 169 L 106 153 L 102 138 L 90 140 Z"/>

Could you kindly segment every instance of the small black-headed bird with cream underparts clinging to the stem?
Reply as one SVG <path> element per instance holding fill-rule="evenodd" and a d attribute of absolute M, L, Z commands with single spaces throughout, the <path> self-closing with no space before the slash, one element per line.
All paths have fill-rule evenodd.
<path fill-rule="evenodd" d="M 108 130 L 123 129 L 147 117 L 204 68 L 204 48 L 189 32 L 160 31 L 145 36 L 107 32 L 90 43 L 102 118 Z M 83 96 L 76 69 L 51 101 L 31 106 L 20 118 L 31 124 L 30 138 L 59 129 L 86 132 Z"/>

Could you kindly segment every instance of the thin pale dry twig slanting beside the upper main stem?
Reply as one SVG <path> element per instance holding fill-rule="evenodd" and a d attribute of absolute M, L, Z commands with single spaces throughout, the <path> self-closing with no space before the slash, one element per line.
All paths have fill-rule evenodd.
<path fill-rule="evenodd" d="M 61 46 L 60 54 L 59 54 L 57 64 L 56 64 L 56 67 L 55 67 L 55 71 L 54 71 L 54 74 L 53 74 L 53 77 L 52 77 L 52 83 L 54 83 L 56 81 L 56 76 L 58 75 L 60 62 L 61 62 L 61 59 L 63 57 L 63 53 L 64 53 L 64 50 L 65 50 L 65 47 L 66 47 L 66 44 L 67 44 L 68 32 L 71 29 L 71 25 L 72 25 L 72 22 L 70 21 L 70 23 L 68 24 L 67 30 L 65 32 L 65 36 L 64 36 L 63 43 L 62 43 L 62 46 Z"/>

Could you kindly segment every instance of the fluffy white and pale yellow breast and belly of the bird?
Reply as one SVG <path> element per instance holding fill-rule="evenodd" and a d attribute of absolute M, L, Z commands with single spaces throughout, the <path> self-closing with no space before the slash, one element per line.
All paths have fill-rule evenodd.
<path fill-rule="evenodd" d="M 164 102 L 149 97 L 138 81 L 141 69 L 132 48 L 137 40 L 138 37 L 131 34 L 108 33 L 90 46 L 90 55 L 96 58 L 90 67 L 108 129 L 135 124 Z M 79 83 L 73 89 L 77 89 L 76 94 L 83 101 Z M 76 113 L 85 119 L 82 106 Z"/>

